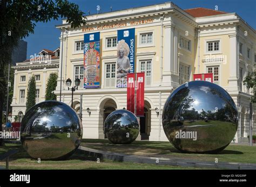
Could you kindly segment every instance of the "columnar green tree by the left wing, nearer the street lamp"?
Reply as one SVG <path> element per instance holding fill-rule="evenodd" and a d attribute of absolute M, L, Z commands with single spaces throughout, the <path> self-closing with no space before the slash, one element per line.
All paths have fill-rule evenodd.
<path fill-rule="evenodd" d="M 53 93 L 57 86 L 57 78 L 57 73 L 50 74 L 46 84 L 45 100 L 57 100 L 57 96 Z"/>

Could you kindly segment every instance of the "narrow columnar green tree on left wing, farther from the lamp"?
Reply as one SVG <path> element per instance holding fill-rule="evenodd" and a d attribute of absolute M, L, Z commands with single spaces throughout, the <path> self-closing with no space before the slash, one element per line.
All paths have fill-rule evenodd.
<path fill-rule="evenodd" d="M 36 78 L 32 75 L 29 79 L 28 92 L 26 96 L 26 112 L 36 104 Z"/>

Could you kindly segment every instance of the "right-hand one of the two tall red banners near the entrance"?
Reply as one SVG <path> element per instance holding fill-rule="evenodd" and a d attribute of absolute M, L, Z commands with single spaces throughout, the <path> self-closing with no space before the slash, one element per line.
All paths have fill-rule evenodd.
<path fill-rule="evenodd" d="M 144 85 L 145 73 L 137 73 L 137 90 L 136 90 L 136 116 L 144 116 Z"/>

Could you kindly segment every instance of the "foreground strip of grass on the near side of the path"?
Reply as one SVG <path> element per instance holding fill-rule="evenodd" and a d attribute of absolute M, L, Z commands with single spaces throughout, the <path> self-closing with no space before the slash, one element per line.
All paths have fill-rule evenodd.
<path fill-rule="evenodd" d="M 0 154 L 9 149 L 19 149 L 19 153 L 12 156 L 9 162 L 9 169 L 204 169 L 175 166 L 157 166 L 155 164 L 139 164 L 130 162 L 117 162 L 111 160 L 100 160 L 97 163 L 95 157 L 81 157 L 73 155 L 69 160 L 64 161 L 41 161 L 30 159 L 21 145 L 6 143 L 0 147 Z M 0 162 L 0 167 L 5 167 L 5 161 Z"/>

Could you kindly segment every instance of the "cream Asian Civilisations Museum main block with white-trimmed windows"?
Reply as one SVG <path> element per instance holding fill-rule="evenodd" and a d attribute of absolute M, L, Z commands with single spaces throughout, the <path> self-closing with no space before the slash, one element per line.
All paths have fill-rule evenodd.
<path fill-rule="evenodd" d="M 256 32 L 237 13 L 205 8 L 183 10 L 168 2 L 86 16 L 86 25 L 75 29 L 64 19 L 56 28 L 61 34 L 55 94 L 57 100 L 72 105 L 82 117 L 83 138 L 106 138 L 103 124 L 107 115 L 127 108 L 127 89 L 117 87 L 118 31 L 134 28 L 134 72 L 145 72 L 140 139 L 168 141 L 161 125 L 167 97 L 179 85 L 193 81 L 193 74 L 212 73 L 213 82 L 227 90 L 238 108 L 234 141 L 248 141 L 251 93 L 242 80 L 256 63 Z M 84 34 L 98 32 L 99 86 L 85 89 Z M 76 78 L 80 79 L 73 102 L 66 86 L 68 78 L 72 86 Z M 256 112 L 253 124 L 255 119 Z"/>

